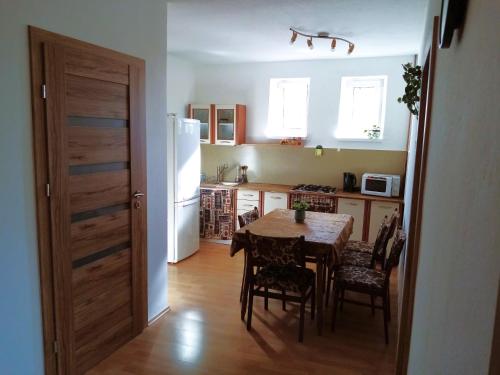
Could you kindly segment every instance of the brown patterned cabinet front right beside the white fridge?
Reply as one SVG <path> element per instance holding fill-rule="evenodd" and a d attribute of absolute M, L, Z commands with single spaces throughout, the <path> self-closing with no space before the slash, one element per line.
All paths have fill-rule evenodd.
<path fill-rule="evenodd" d="M 234 190 L 201 189 L 201 238 L 230 240 L 234 232 L 234 218 Z"/>

